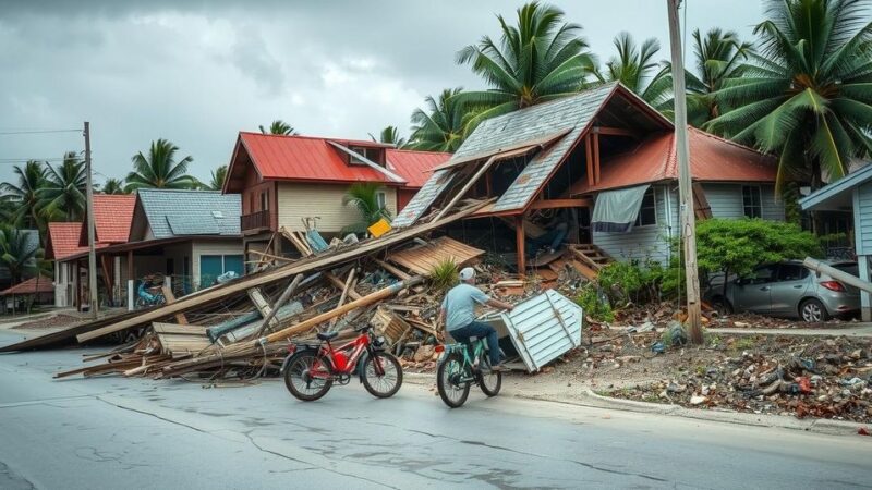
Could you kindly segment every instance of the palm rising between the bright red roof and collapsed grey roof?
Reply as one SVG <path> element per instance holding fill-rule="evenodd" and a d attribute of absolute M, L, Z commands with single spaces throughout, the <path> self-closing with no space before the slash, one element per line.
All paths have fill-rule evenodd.
<path fill-rule="evenodd" d="M 457 103 L 456 95 L 461 87 L 446 88 L 439 101 L 427 96 L 426 112 L 415 109 L 412 112 L 412 136 L 408 147 L 424 151 L 456 151 L 463 143 L 464 112 Z"/>

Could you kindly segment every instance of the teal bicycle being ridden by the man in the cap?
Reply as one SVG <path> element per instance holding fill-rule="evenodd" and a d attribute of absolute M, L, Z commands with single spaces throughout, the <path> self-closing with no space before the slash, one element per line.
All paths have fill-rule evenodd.
<path fill-rule="evenodd" d="M 441 348 L 440 348 L 441 347 Z M 436 387 L 446 405 L 457 408 L 467 403 L 470 387 L 477 384 L 487 396 L 496 396 L 502 388 L 502 372 L 492 371 L 484 339 L 437 347 L 444 351 L 436 371 Z"/>

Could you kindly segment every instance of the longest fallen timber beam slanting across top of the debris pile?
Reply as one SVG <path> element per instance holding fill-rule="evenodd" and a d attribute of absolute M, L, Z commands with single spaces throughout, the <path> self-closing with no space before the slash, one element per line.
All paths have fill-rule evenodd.
<path fill-rule="evenodd" d="M 78 342 L 87 342 L 122 330 L 148 326 L 154 321 L 167 321 L 178 314 L 187 313 L 192 308 L 219 303 L 230 295 L 239 293 L 244 294 L 249 289 L 252 287 L 287 280 L 301 273 L 305 274 L 308 272 L 329 270 L 346 262 L 375 254 L 379 250 L 386 249 L 387 247 L 399 245 L 423 233 L 445 226 L 446 224 L 472 215 L 489 203 L 491 200 L 479 201 L 439 220 L 434 220 L 428 223 L 395 231 L 378 238 L 362 241 L 352 247 L 340 248 L 322 255 L 306 257 L 295 262 L 281 266 L 277 269 L 243 277 L 227 284 L 221 284 L 219 286 L 211 287 L 208 291 L 201 292 L 201 294 L 179 298 L 171 305 L 165 305 L 160 308 L 146 310 L 132 318 L 125 318 L 112 324 L 77 334 L 76 339 Z M 349 303 L 348 305 L 353 305 L 358 301 L 360 299 Z"/>

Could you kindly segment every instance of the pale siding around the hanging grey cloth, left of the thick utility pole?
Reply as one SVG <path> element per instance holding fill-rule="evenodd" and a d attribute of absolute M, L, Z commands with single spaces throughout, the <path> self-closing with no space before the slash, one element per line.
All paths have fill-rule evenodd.
<path fill-rule="evenodd" d="M 593 233 L 593 244 L 619 260 L 658 261 L 670 259 L 669 241 L 678 231 L 678 194 L 675 188 L 653 186 L 657 224 L 635 226 L 629 233 Z M 667 188 L 668 194 L 667 194 Z M 667 217 L 667 210 L 668 217 Z"/>

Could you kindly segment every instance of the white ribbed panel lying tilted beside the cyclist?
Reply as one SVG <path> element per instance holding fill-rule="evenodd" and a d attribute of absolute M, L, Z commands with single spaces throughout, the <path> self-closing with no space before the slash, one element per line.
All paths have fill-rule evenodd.
<path fill-rule="evenodd" d="M 564 353 L 581 345 L 584 314 L 562 294 L 548 290 L 509 313 L 484 318 L 506 330 L 528 372 L 535 372 Z"/>

